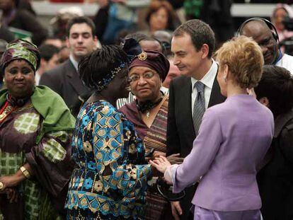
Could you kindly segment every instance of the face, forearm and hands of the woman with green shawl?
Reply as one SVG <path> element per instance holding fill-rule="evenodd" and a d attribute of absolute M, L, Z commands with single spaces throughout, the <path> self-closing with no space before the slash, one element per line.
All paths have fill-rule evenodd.
<path fill-rule="evenodd" d="M 4 80 L 12 97 L 25 98 L 33 94 L 35 71 L 24 59 L 16 59 L 4 69 Z M 30 164 L 25 163 L 23 166 L 32 176 L 33 170 L 30 168 Z M 18 186 L 25 179 L 25 175 L 21 170 L 18 170 L 13 175 L 0 176 L 0 182 L 3 184 L 0 193 L 6 193 L 10 202 L 17 201 L 18 194 L 13 187 Z"/>

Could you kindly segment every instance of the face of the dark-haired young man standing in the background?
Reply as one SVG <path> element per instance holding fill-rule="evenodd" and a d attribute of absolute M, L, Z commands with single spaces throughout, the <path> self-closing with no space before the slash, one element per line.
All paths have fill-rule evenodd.
<path fill-rule="evenodd" d="M 97 39 L 91 33 L 91 27 L 86 23 L 75 23 L 71 26 L 67 47 L 76 61 L 96 49 Z"/>

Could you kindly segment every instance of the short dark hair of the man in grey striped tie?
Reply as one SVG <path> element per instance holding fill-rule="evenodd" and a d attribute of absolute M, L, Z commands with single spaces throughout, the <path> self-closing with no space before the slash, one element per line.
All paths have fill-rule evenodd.
<path fill-rule="evenodd" d="M 173 36 L 182 36 L 184 33 L 190 35 L 197 51 L 202 48 L 202 45 L 207 44 L 209 46 L 207 57 L 212 57 L 216 40 L 214 38 L 214 31 L 207 23 L 197 19 L 187 21 L 174 31 Z"/>

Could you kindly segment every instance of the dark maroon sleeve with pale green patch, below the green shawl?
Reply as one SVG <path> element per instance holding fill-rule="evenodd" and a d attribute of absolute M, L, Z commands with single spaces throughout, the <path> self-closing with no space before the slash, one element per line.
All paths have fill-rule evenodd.
<path fill-rule="evenodd" d="M 71 134 L 68 132 L 50 132 L 25 154 L 35 178 L 54 197 L 57 197 L 67 185 L 74 168 L 71 161 L 70 139 Z"/>

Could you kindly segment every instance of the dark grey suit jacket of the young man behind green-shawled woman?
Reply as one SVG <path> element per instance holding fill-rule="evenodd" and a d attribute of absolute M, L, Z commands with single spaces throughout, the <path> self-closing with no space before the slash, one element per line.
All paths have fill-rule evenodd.
<path fill-rule="evenodd" d="M 61 95 L 69 108 L 76 104 L 79 100 L 79 95 L 90 91 L 79 79 L 79 74 L 70 59 L 42 74 L 40 85 L 48 86 Z"/>

